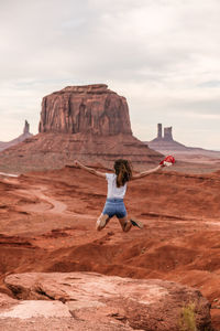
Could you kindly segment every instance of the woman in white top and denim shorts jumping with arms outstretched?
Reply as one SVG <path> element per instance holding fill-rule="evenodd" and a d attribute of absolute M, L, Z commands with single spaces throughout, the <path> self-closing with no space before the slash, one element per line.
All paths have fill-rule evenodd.
<path fill-rule="evenodd" d="M 117 216 L 122 231 L 129 232 L 132 226 L 143 227 L 143 224 L 136 220 L 129 220 L 127 210 L 123 203 L 123 197 L 127 192 L 127 182 L 143 178 L 150 173 L 158 171 L 163 167 L 170 166 L 175 162 L 173 157 L 167 157 L 161 161 L 160 166 L 154 169 L 146 170 L 136 174 L 132 173 L 131 163 L 128 160 L 119 159 L 114 162 L 114 173 L 103 173 L 92 168 L 86 167 L 79 161 L 75 161 L 75 166 L 79 167 L 95 175 L 105 178 L 108 182 L 108 194 L 103 211 L 96 223 L 97 231 L 106 227 L 110 218 Z"/>

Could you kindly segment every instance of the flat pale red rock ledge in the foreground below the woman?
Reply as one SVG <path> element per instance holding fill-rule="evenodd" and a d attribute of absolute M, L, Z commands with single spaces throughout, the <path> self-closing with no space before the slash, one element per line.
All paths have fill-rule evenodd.
<path fill-rule="evenodd" d="M 198 331 L 212 330 L 208 301 L 198 290 L 175 282 L 91 273 L 18 274 L 4 281 L 22 301 L 2 308 L 1 321 L 59 316 L 62 323 L 63 318 L 68 320 L 72 316 L 72 323 L 85 322 L 78 330 L 177 331 L 190 330 L 189 323 Z M 89 329 L 91 321 L 96 321 L 96 328 Z"/>

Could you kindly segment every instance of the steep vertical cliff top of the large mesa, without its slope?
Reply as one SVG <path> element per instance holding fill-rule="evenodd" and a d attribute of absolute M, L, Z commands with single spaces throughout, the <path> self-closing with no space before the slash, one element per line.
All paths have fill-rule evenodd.
<path fill-rule="evenodd" d="M 65 87 L 43 98 L 38 131 L 132 135 L 127 99 L 105 84 Z"/>

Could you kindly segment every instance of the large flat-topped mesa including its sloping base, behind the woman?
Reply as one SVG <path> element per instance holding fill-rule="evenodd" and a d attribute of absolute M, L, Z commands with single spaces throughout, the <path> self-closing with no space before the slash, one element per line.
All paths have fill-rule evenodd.
<path fill-rule="evenodd" d="M 38 135 L 2 152 L 0 171 L 63 168 L 75 159 L 112 167 L 118 158 L 141 169 L 162 157 L 133 137 L 123 96 L 106 84 L 68 86 L 43 98 Z"/>

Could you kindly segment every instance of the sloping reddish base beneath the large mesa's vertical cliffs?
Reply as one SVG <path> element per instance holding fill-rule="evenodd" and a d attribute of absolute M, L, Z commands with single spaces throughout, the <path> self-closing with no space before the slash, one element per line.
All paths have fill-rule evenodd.
<path fill-rule="evenodd" d="M 116 159 L 127 158 L 134 168 L 155 164 L 163 158 L 131 135 L 94 136 L 84 134 L 38 134 L 1 153 L 0 171 L 26 172 L 63 168 L 79 159 L 113 167 Z"/>

